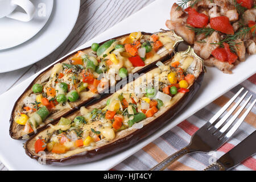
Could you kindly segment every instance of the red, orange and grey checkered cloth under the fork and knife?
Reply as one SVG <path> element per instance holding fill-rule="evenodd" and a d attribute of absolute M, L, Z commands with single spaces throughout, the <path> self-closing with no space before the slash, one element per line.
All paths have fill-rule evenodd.
<path fill-rule="evenodd" d="M 192 115 L 173 129 L 162 135 L 154 142 L 151 142 L 146 147 L 139 150 L 134 155 L 127 158 L 122 163 L 115 166 L 112 170 L 148 170 L 161 162 L 168 155 L 174 154 L 176 151 L 187 146 L 190 142 L 191 136 L 203 126 L 213 115 L 221 109 L 222 106 L 229 101 L 242 87 L 249 90 L 249 97 L 253 94 L 254 101 L 256 98 L 256 74 L 248 80 L 242 82 L 228 93 L 224 94 L 217 100 L 213 101 L 208 106 L 201 109 L 196 114 Z M 203 170 L 210 164 L 215 162 L 218 158 L 240 143 L 248 135 L 253 133 L 256 129 L 256 106 L 250 111 L 245 121 L 242 123 L 238 131 L 233 135 L 228 143 L 219 148 L 217 152 L 210 152 L 209 154 L 196 153 L 184 156 L 177 162 L 172 164 L 167 170 Z M 241 116 L 241 115 L 240 115 Z M 256 155 L 243 161 L 233 170 L 254 170 L 256 171 Z"/>

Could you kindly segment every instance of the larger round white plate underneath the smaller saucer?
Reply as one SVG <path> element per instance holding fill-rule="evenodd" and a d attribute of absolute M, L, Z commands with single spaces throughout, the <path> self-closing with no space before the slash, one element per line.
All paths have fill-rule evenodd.
<path fill-rule="evenodd" d="M 75 26 L 80 0 L 56 0 L 52 14 L 33 38 L 19 46 L 0 51 L 0 73 L 24 68 L 54 51 Z"/>

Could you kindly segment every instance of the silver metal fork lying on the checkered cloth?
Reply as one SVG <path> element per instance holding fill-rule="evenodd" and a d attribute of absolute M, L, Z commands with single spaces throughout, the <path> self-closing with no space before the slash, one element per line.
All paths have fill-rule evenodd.
<path fill-rule="evenodd" d="M 234 110 L 236 110 L 236 108 L 243 101 L 248 91 L 243 94 L 240 100 L 238 100 L 238 102 L 221 119 L 218 118 L 228 109 L 228 107 L 234 102 L 234 100 L 236 100 L 236 98 L 240 95 L 243 89 L 244 88 L 241 88 L 234 95 L 234 97 L 232 97 L 203 127 L 201 127 L 199 130 L 197 130 L 195 134 L 193 134 L 191 142 L 188 144 L 188 146 L 168 156 L 162 162 L 152 167 L 150 171 L 163 171 L 176 160 L 180 159 L 184 155 L 191 154 L 192 152 L 210 152 L 217 150 L 219 147 L 221 147 L 222 144 L 224 144 L 235 133 L 238 127 L 240 127 L 241 123 L 246 118 L 247 114 L 249 114 L 249 111 L 253 108 L 256 102 L 256 100 L 254 100 L 253 103 L 242 115 L 242 117 L 238 119 L 238 121 L 231 127 L 231 129 L 229 129 L 229 127 L 236 120 L 238 115 L 240 115 L 242 110 L 249 103 L 251 97 L 253 97 L 253 95 L 251 95 L 249 98 L 247 98 L 245 103 L 240 107 L 236 114 L 234 114 L 233 117 L 229 119 L 229 121 L 226 122 L 224 126 L 222 126 L 225 121 L 230 117 L 230 115 L 234 112 Z"/>

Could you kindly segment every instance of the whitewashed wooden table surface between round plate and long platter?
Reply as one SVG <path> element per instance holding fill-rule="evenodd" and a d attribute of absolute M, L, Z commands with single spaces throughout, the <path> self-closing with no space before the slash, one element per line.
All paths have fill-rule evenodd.
<path fill-rule="evenodd" d="M 80 13 L 76 25 L 63 44 L 50 55 L 38 61 L 38 63 L 16 71 L 0 73 L 0 94 L 154 1 L 81 0 Z M 108 12 L 109 16 L 102 16 L 102 12 Z M 7 170 L 1 162 L 0 170 Z"/>

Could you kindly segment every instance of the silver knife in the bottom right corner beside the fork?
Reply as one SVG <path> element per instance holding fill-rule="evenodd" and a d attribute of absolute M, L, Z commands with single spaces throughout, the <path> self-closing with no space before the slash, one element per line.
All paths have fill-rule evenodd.
<path fill-rule="evenodd" d="M 256 131 L 242 140 L 236 147 L 222 155 L 216 163 L 204 171 L 227 171 L 240 164 L 243 160 L 256 153 Z"/>

